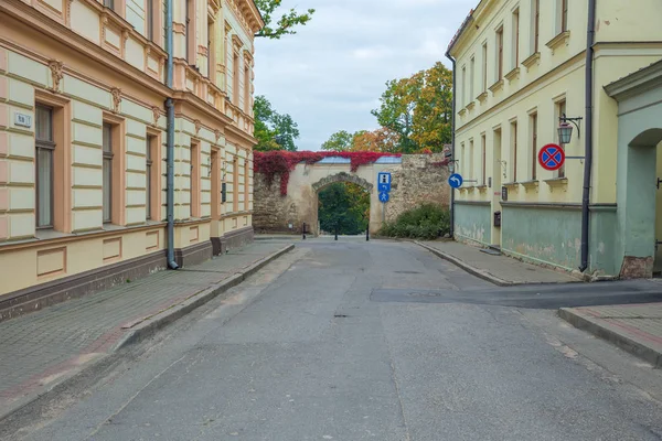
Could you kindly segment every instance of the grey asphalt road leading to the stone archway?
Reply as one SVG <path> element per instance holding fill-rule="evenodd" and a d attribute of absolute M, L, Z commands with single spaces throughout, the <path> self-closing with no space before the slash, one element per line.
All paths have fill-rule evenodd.
<path fill-rule="evenodd" d="M 307 240 L 0 434 L 661 440 L 662 373 L 538 309 L 595 290 L 516 290 L 412 244 Z"/>

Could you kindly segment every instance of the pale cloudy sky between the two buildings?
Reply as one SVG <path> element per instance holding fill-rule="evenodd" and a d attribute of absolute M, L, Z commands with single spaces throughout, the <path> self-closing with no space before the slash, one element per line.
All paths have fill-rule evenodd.
<path fill-rule="evenodd" d="M 375 129 L 371 109 L 388 79 L 442 61 L 478 0 L 284 0 L 314 8 L 296 35 L 256 42 L 256 95 L 290 114 L 299 150 L 319 150 L 338 130 Z"/>

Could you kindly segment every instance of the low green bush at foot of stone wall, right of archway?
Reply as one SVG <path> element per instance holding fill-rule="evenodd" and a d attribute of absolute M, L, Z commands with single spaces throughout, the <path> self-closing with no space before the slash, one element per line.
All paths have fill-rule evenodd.
<path fill-rule="evenodd" d="M 423 204 L 405 212 L 395 222 L 386 223 L 380 234 L 386 237 L 410 239 L 436 239 L 450 233 L 448 208 L 434 204 Z"/>

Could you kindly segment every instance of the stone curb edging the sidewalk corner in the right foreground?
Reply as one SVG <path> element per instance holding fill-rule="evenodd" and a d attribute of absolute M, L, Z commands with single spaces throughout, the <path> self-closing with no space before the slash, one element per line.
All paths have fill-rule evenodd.
<path fill-rule="evenodd" d="M 558 316 L 570 323 L 573 326 L 590 332 L 591 334 L 617 345 L 621 349 L 651 363 L 655 367 L 662 367 L 662 352 L 650 347 L 644 343 L 634 341 L 627 335 L 620 334 L 609 326 L 601 324 L 594 318 L 581 314 L 572 308 L 562 308 L 558 310 Z"/>

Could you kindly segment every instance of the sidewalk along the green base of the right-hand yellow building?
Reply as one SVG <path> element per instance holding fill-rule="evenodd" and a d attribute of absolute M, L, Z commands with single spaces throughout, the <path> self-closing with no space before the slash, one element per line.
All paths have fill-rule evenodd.
<path fill-rule="evenodd" d="M 500 287 L 580 281 L 568 273 L 525 263 L 508 256 L 492 256 L 482 252 L 480 248 L 457 241 L 416 241 L 416 244 Z"/>

